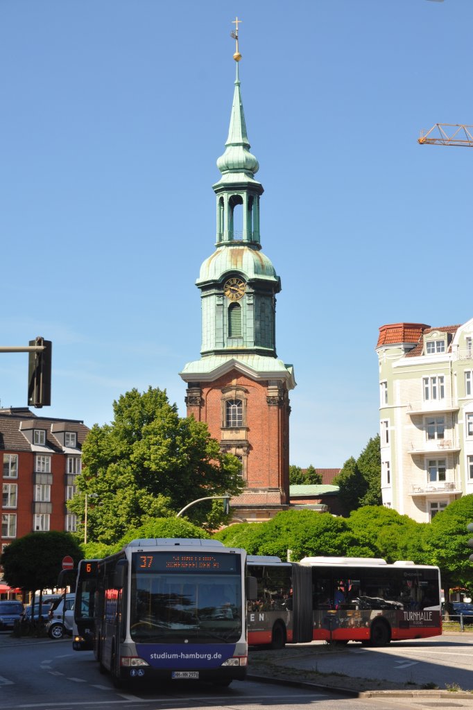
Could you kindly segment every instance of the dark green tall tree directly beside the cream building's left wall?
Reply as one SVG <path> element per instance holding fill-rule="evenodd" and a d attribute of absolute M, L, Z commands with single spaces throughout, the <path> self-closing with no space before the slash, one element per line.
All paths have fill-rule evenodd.
<path fill-rule="evenodd" d="M 381 448 L 379 435 L 369 439 L 358 459 L 345 461 L 334 479 L 344 515 L 362 506 L 381 505 Z"/>

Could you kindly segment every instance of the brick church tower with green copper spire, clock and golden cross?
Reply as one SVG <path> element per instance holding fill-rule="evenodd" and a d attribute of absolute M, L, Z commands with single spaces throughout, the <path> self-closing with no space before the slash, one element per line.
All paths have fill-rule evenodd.
<path fill-rule="evenodd" d="M 281 280 L 261 251 L 261 182 L 237 77 L 225 151 L 217 160 L 215 251 L 200 267 L 201 358 L 187 363 L 187 415 L 207 422 L 224 452 L 241 461 L 245 489 L 233 498 L 241 520 L 266 520 L 289 503 L 289 396 L 293 367 L 276 356 L 276 294 Z"/>

